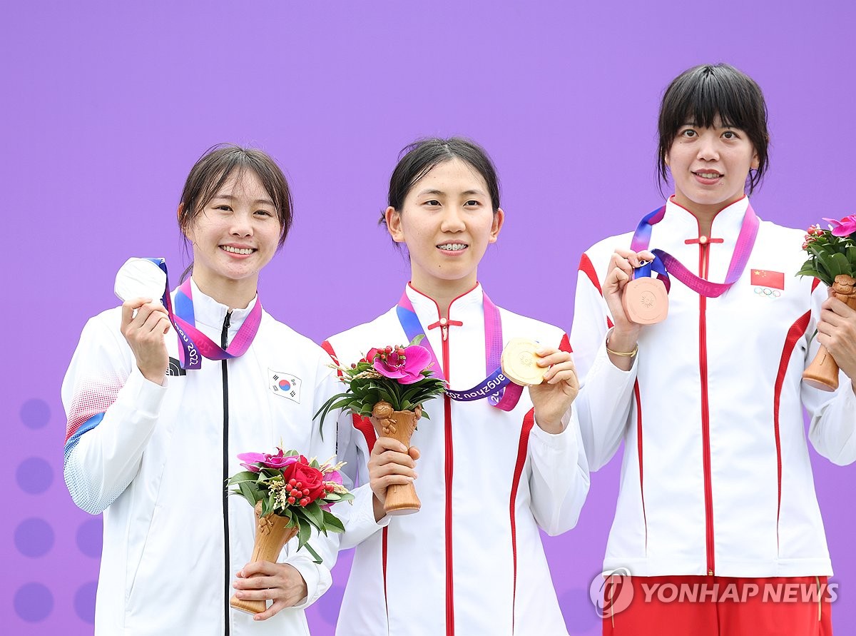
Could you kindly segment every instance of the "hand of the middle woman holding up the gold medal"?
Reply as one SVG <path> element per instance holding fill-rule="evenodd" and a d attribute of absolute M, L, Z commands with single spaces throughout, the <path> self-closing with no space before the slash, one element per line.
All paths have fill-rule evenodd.
<path fill-rule="evenodd" d="M 529 397 L 535 407 L 535 423 L 548 433 L 558 434 L 565 428 L 562 416 L 580 393 L 577 369 L 568 351 L 544 347 L 538 351 L 538 357 L 538 366 L 550 369 L 547 369 L 541 384 L 529 387 Z"/>

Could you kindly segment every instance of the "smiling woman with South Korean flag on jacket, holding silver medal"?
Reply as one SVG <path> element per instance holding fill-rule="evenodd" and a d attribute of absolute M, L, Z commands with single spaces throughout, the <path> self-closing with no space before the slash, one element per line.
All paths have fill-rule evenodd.
<path fill-rule="evenodd" d="M 336 453 L 335 431 L 322 439 L 312 424 L 336 389 L 330 358 L 257 291 L 291 220 L 273 159 L 212 148 L 178 207 L 191 276 L 170 294 L 163 259 L 128 261 L 122 307 L 80 336 L 62 383 L 65 480 L 78 506 L 104 513 L 97 634 L 309 633 L 302 608 L 330 586 L 335 552 L 318 537 L 323 564 L 296 540 L 282 562 L 248 563 L 253 509 L 226 496 L 240 453 Z M 233 594 L 272 603 L 236 612 Z"/>

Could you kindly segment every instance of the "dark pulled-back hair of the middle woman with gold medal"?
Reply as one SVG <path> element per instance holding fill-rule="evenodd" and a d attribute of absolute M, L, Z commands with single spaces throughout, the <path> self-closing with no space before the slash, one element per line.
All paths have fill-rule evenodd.
<path fill-rule="evenodd" d="M 496 166 L 484 148 L 475 141 L 464 137 L 429 137 L 413 141 L 404 147 L 398 156 L 398 165 L 389 177 L 389 207 L 401 211 L 407 193 L 419 179 L 425 177 L 436 165 L 452 159 L 461 159 L 484 179 L 494 213 L 499 209 L 499 178 L 496 177 Z M 385 217 L 381 214 L 381 224 L 384 220 Z"/>

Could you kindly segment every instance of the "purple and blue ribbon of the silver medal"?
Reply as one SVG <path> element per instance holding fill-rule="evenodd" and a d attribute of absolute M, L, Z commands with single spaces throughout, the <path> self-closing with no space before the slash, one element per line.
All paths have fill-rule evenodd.
<path fill-rule="evenodd" d="M 195 327 L 193 317 L 193 287 L 190 279 L 185 280 L 175 291 L 175 311 L 172 299 L 169 297 L 169 273 L 167 273 L 166 261 L 163 258 L 150 258 L 155 265 L 166 274 L 166 289 L 163 291 L 161 302 L 169 313 L 169 322 L 175 327 L 178 334 L 178 351 L 181 358 L 181 369 L 201 369 L 202 357 L 209 360 L 229 360 L 233 357 L 241 357 L 253 344 L 259 325 L 262 321 L 262 304 L 258 298 L 250 309 L 250 313 L 244 320 L 232 343 L 223 349 L 217 345 L 205 333 Z M 202 356 L 202 357 L 200 357 Z"/>

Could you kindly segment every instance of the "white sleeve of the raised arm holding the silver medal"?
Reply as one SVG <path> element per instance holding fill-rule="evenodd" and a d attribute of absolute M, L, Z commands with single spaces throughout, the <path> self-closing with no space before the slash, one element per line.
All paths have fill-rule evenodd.
<path fill-rule="evenodd" d="M 62 381 L 63 474 L 74 503 L 92 514 L 116 501 L 140 470 L 166 394 L 137 369 L 117 321 L 117 312 L 107 312 L 86 323 Z"/>

